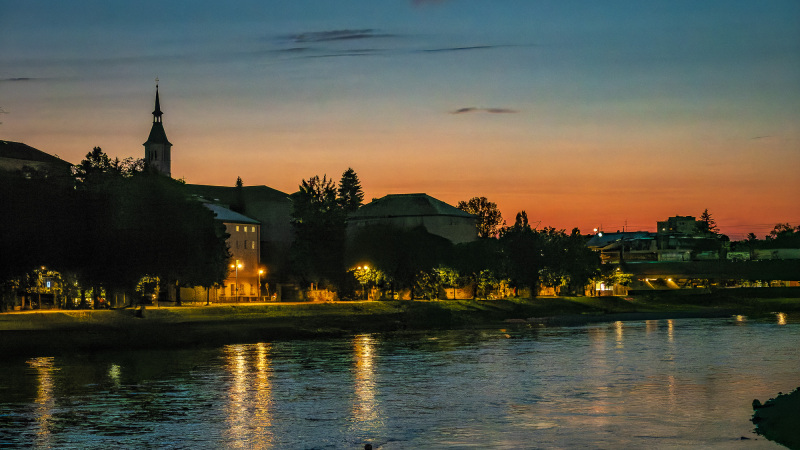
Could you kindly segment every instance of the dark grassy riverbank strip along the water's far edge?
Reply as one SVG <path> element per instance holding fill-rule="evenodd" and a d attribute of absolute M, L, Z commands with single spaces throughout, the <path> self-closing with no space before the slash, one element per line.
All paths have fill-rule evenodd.
<path fill-rule="evenodd" d="M 350 333 L 593 321 L 767 316 L 800 319 L 800 298 L 726 293 L 637 297 L 239 304 L 0 314 L 0 352 L 193 347 Z"/>

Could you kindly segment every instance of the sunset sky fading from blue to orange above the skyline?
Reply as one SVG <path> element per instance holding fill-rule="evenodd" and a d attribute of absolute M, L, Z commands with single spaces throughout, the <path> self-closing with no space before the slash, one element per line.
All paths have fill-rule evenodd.
<path fill-rule="evenodd" d="M 0 0 L 0 139 L 141 158 L 156 78 L 188 183 L 800 225 L 796 0 Z"/>

